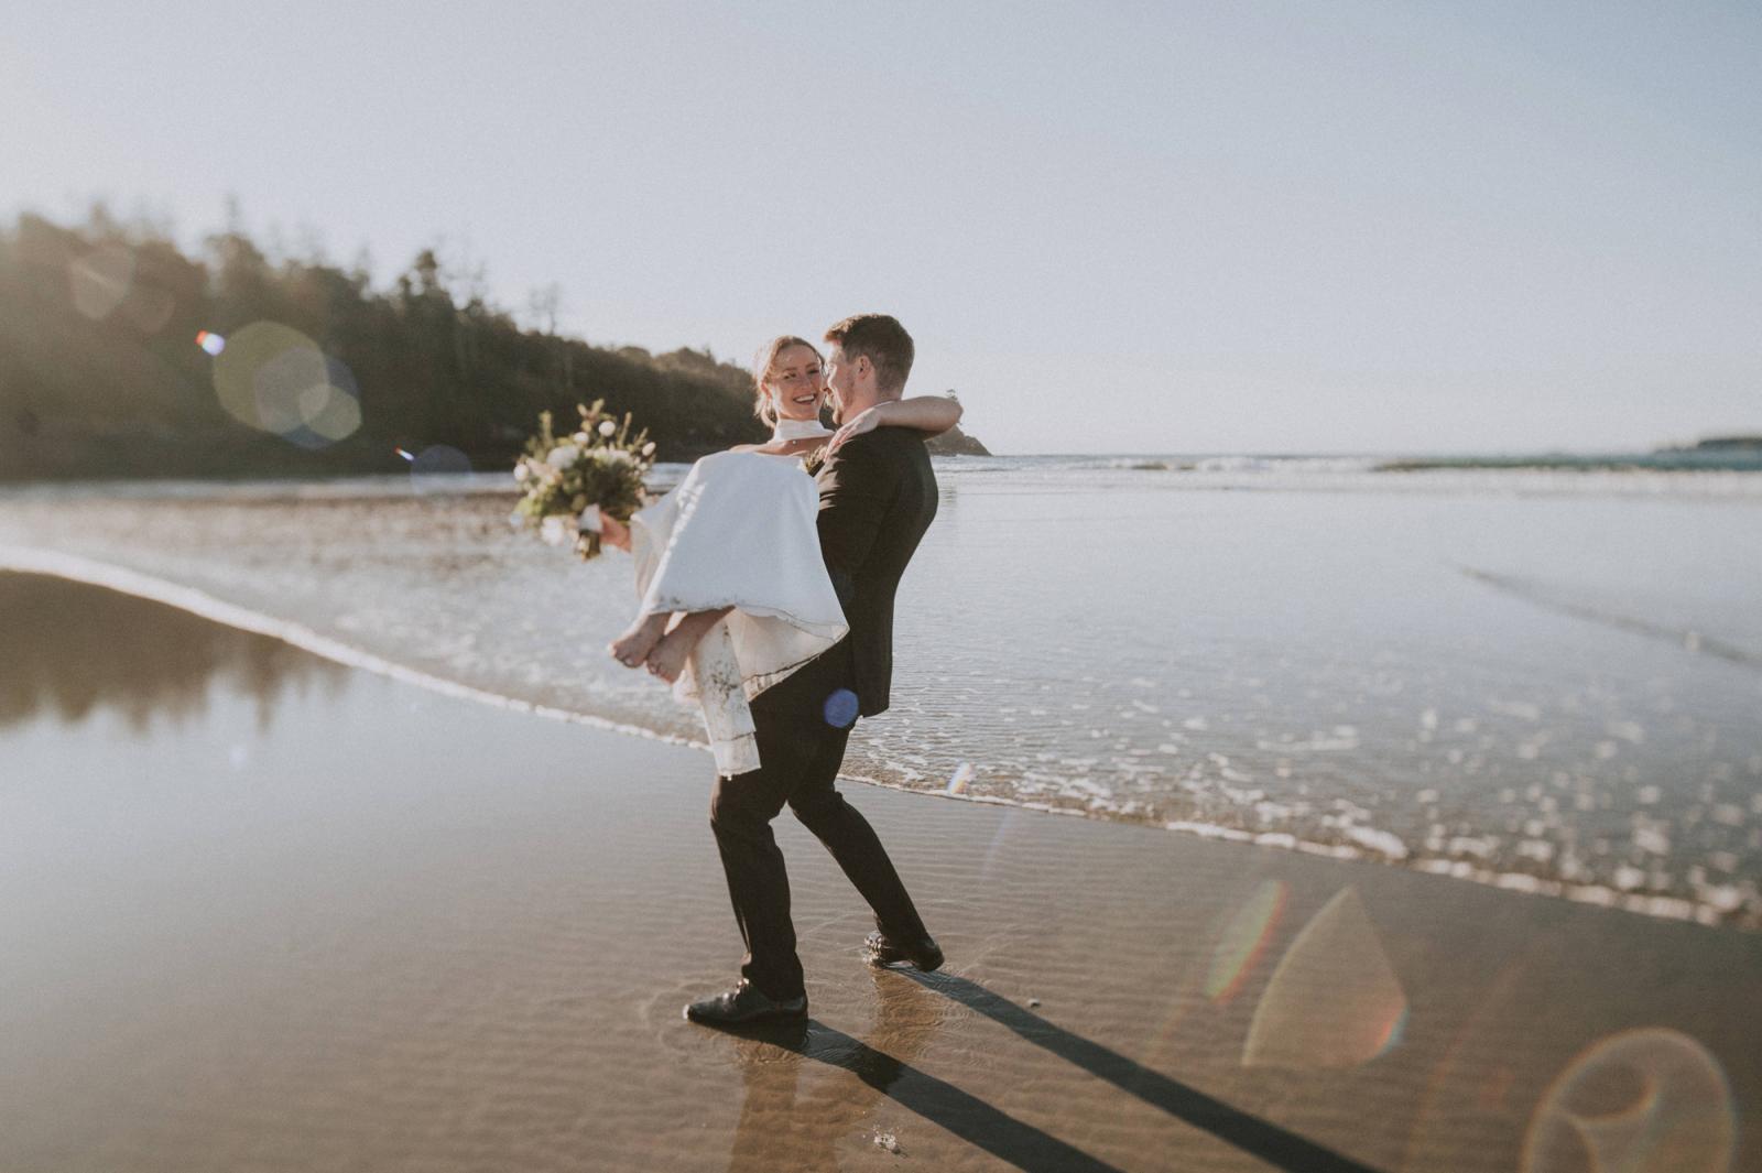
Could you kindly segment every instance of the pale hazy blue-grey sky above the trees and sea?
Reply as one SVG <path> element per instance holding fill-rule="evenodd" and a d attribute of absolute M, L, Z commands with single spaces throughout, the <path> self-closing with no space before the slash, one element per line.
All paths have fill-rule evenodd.
<path fill-rule="evenodd" d="M 1762 430 L 1762 5 L 0 11 L 0 211 L 562 289 L 596 343 L 892 312 L 997 451 Z"/>

